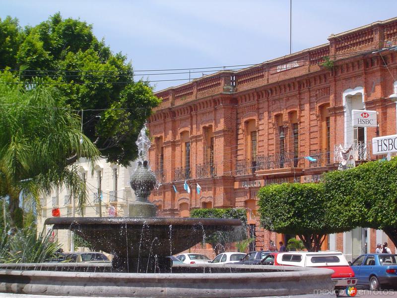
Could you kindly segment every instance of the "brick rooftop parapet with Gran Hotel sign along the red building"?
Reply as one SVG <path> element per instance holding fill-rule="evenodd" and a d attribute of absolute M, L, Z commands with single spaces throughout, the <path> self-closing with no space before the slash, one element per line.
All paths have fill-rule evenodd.
<path fill-rule="evenodd" d="M 326 57 L 336 61 L 383 47 L 397 45 L 397 17 L 374 22 L 339 34 L 329 43 L 265 61 L 239 71 L 220 71 L 155 93 L 162 110 L 221 93 L 235 93 L 322 70 Z M 388 42 L 386 44 L 386 42 Z M 293 71 L 292 71 L 293 70 Z M 277 74 L 277 75 L 273 75 Z"/>

